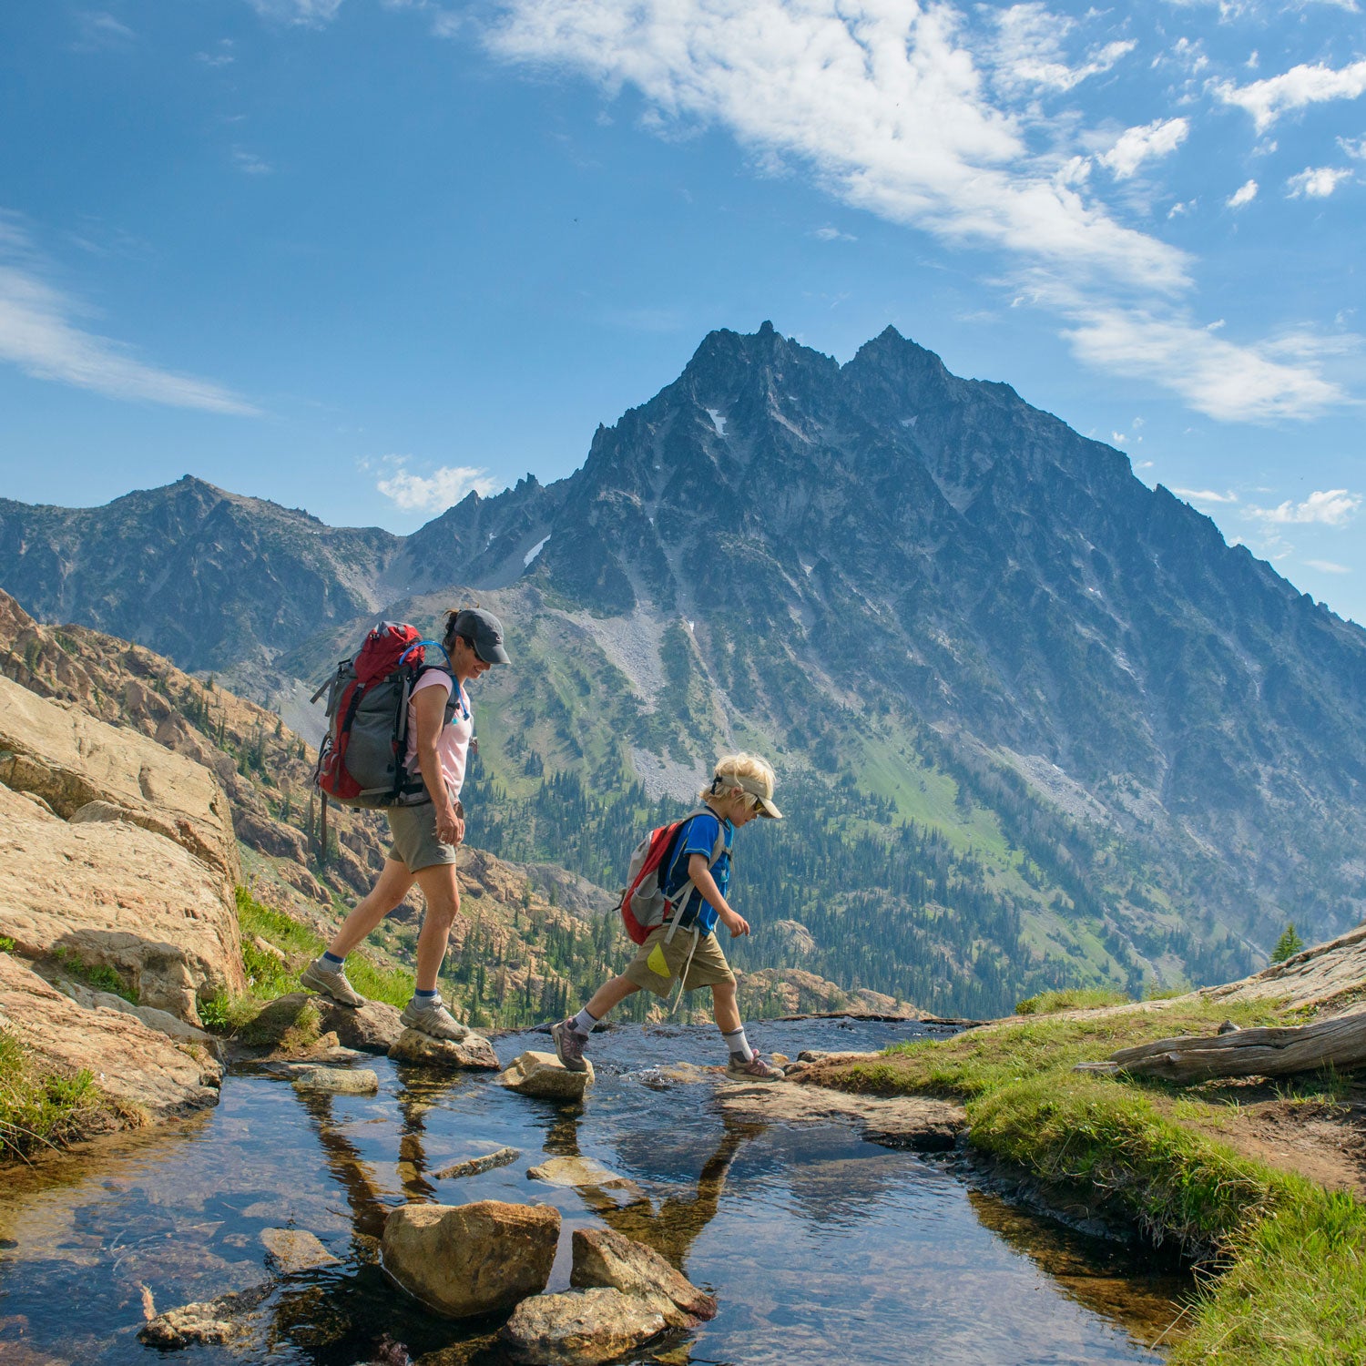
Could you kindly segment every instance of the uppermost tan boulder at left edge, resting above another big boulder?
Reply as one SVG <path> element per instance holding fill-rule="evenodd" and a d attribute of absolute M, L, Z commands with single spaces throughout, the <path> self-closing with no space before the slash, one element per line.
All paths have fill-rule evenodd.
<path fill-rule="evenodd" d="M 0 676 L 0 781 L 57 816 L 122 820 L 183 846 L 219 874 L 224 903 L 242 881 L 232 813 L 219 780 L 127 727 L 51 702 Z"/>

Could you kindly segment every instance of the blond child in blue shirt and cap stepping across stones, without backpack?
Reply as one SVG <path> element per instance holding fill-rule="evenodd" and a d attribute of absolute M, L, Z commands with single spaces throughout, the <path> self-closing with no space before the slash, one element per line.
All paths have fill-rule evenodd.
<path fill-rule="evenodd" d="M 716 1026 L 731 1055 L 727 1076 L 764 1082 L 783 1076 L 783 1070 L 759 1057 L 744 1037 L 735 1004 L 735 974 L 714 933 L 717 921 L 732 938 L 750 932 L 750 922 L 731 910 L 725 899 L 731 887 L 731 841 L 755 816 L 775 820 L 783 816 L 773 805 L 773 769 L 754 754 L 727 754 L 716 761 L 712 784 L 698 794 L 698 802 L 701 809 L 679 828 L 668 870 L 660 878 L 673 910 L 665 910 L 664 923 L 650 930 L 620 977 L 600 986 L 578 1015 L 550 1030 L 555 1052 L 571 1072 L 583 1071 L 589 1034 L 613 1005 L 641 988 L 668 996 L 682 978 L 687 992 L 712 988 Z M 680 895 L 688 884 L 690 891 Z"/>

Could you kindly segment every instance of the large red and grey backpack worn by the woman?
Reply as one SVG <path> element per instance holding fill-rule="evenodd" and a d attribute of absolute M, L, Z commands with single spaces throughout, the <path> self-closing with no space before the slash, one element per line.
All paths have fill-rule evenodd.
<path fill-rule="evenodd" d="M 426 652 L 437 641 L 425 641 L 415 626 L 381 622 L 365 638 L 355 658 L 342 660 L 336 673 L 313 694 L 328 694 L 328 734 L 318 749 L 314 783 L 343 806 L 414 806 L 429 800 L 421 773 L 408 773 L 408 698 L 413 686 L 430 669 L 449 672 L 445 664 L 428 664 Z M 449 724 L 459 705 L 460 687 L 452 679 L 445 703 Z"/>

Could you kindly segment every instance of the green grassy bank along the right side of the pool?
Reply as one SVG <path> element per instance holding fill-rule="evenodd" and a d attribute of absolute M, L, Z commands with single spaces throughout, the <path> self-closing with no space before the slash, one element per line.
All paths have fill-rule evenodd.
<path fill-rule="evenodd" d="M 831 1082 L 964 1101 L 970 1141 L 1045 1186 L 1220 1270 L 1171 1361 L 1358 1363 L 1366 1359 L 1366 1208 L 1212 1137 L 1229 1119 L 1216 1087 L 1074 1072 L 1116 1049 L 1177 1034 L 1298 1023 L 1274 1005 L 1182 1001 L 1160 1011 L 1034 1018 L 906 1044 Z M 1310 1082 L 1300 1091 L 1333 1083 Z"/>

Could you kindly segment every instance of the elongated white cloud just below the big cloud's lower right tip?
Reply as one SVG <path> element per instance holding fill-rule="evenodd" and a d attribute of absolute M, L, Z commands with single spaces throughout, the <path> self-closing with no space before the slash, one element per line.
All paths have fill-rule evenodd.
<path fill-rule="evenodd" d="M 1079 359 L 1143 376 L 1223 422 L 1311 418 L 1344 402 L 1337 385 L 1305 365 L 1285 365 L 1265 347 L 1239 346 L 1182 318 L 1138 309 L 1078 309 L 1064 336 Z"/>

